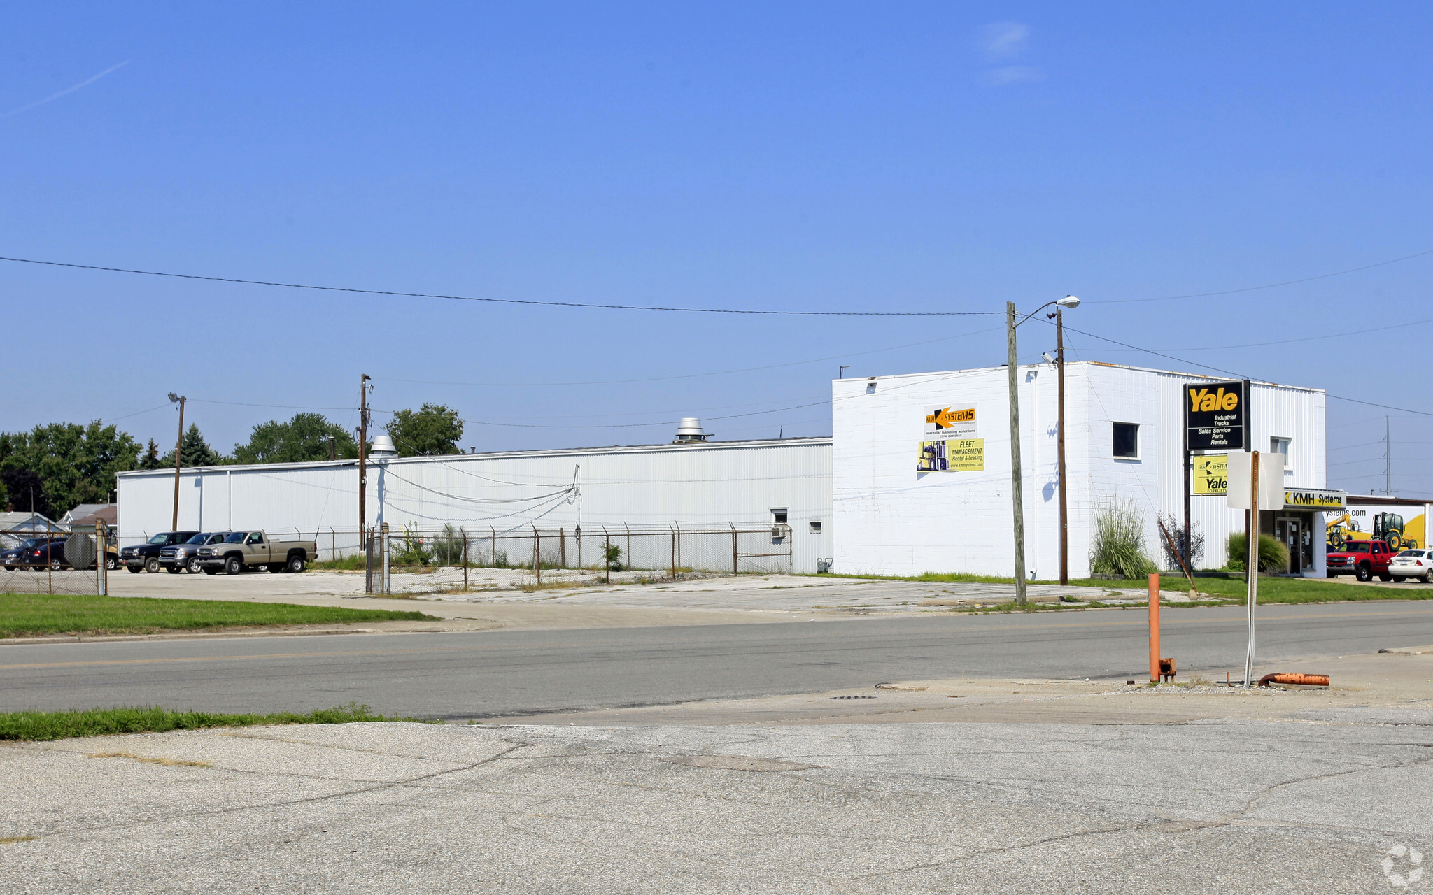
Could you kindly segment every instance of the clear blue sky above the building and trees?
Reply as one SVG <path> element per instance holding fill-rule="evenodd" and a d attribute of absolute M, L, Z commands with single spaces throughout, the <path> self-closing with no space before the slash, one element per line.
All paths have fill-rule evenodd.
<path fill-rule="evenodd" d="M 0 33 L 0 255 L 716 308 L 1073 292 L 1072 326 L 1188 362 L 1080 335 L 1075 357 L 1433 412 L 1433 255 L 1128 302 L 1433 249 L 1430 26 L 1426 4 L 30 4 Z M 979 316 L 6 262 L 0 291 L 26 345 L 0 428 L 100 417 L 165 442 L 173 411 L 136 411 L 173 390 L 225 450 L 294 412 L 248 404 L 355 424 L 361 372 L 380 410 L 457 407 L 479 450 L 665 441 L 681 415 L 827 434 L 800 405 L 840 364 L 1005 351 Z M 1022 329 L 1022 355 L 1052 342 Z M 1281 344 L 1224 348 L 1251 342 Z M 1390 412 L 1394 488 L 1433 493 L 1433 418 Z M 1383 415 L 1330 401 L 1331 484 L 1381 488 Z"/>

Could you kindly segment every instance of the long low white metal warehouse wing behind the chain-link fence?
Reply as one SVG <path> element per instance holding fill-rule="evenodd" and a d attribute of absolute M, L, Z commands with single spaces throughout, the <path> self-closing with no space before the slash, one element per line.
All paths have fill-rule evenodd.
<path fill-rule="evenodd" d="M 765 531 L 764 537 L 744 536 L 744 569 L 784 566 L 755 558 L 762 551 L 788 553 L 794 571 L 817 571 L 818 560 L 833 556 L 830 438 L 692 440 L 444 457 L 385 455 L 384 444 L 391 441 L 380 435 L 368 461 L 367 524 L 387 523 L 396 536 L 453 526 L 476 538 L 513 541 L 537 528 L 552 543 L 549 533 L 560 531 L 570 563 L 577 546 L 567 538 L 580 524 L 586 563 L 592 564 L 598 561 L 592 538 L 605 530 L 615 543 L 626 544 L 631 538 L 618 540 L 618 533 L 735 527 Z M 120 473 L 120 541 L 168 531 L 173 493 L 173 470 Z M 357 513 L 355 460 L 186 468 L 179 475 L 181 530 L 298 533 L 315 538 L 320 556 L 327 557 L 358 550 Z M 674 551 L 691 556 L 698 540 L 674 538 Z M 727 541 L 706 541 L 708 564 L 725 567 L 731 553 Z M 632 548 L 641 553 L 638 546 Z M 546 554 L 547 547 L 543 550 Z M 661 563 L 652 560 L 653 567 L 666 564 L 665 547 L 648 544 L 648 553 L 662 554 Z M 749 561 L 748 553 L 754 554 Z M 672 564 L 691 563 L 674 557 Z"/>

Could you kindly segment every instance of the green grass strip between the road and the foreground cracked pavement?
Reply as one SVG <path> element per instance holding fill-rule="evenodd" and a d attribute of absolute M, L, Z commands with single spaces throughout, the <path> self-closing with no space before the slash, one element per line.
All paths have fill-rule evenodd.
<path fill-rule="evenodd" d="M 417 722 L 417 717 L 385 717 L 368 706 L 348 703 L 307 715 L 222 715 L 218 712 L 172 712 L 158 706 L 126 709 L 72 709 L 69 712 L 0 712 L 0 740 L 53 740 L 73 736 L 115 733 L 162 733 L 201 727 L 252 727 L 255 725 L 348 725 L 354 722 Z"/>

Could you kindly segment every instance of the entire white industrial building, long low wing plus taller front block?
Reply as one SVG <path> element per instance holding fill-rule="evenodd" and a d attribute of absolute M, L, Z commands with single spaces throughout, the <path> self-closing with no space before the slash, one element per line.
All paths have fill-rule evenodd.
<path fill-rule="evenodd" d="M 1146 553 L 1164 564 L 1156 521 L 1161 514 L 1184 520 L 1185 390 L 1211 379 L 1098 362 L 1065 369 L 1070 577 L 1089 576 L 1093 523 L 1113 503 L 1142 516 Z M 1026 569 L 1050 581 L 1059 576 L 1060 537 L 1056 371 L 1036 364 L 1017 372 Z M 1321 510 L 1333 511 L 1327 524 L 1334 526 L 1334 513 L 1347 508 L 1341 493 L 1324 488 L 1324 392 L 1270 382 L 1248 388 L 1250 444 L 1285 455 L 1290 500 L 1305 504 L 1261 513 L 1261 530 L 1290 546 L 1290 573 L 1323 576 Z M 765 544 L 772 554 L 788 553 L 798 573 L 834 560 L 831 570 L 854 574 L 1009 576 L 1006 368 L 835 379 L 831 390 L 831 438 L 722 442 L 684 430 L 672 444 L 398 458 L 383 450 L 391 442 L 380 435 L 368 465 L 367 526 L 434 533 L 451 524 L 476 537 L 536 528 L 560 533 L 560 548 L 576 550 L 566 538 L 580 524 L 589 551 L 589 538 L 603 530 L 737 527 L 752 531 L 741 546 L 752 556 L 744 569 L 771 569 L 755 558 Z M 933 435 L 930 420 L 941 411 L 950 420 Z M 1191 465 L 1208 471 L 1202 461 L 1215 458 L 1195 457 Z M 186 468 L 179 480 L 181 528 L 298 533 L 317 538 L 321 556 L 358 548 L 357 505 L 353 460 Z M 123 543 L 169 530 L 172 507 L 172 470 L 119 474 Z M 1244 530 L 1244 513 L 1215 493 L 1192 495 L 1189 510 L 1205 543 L 1198 566 L 1222 566 L 1225 538 Z M 767 536 L 758 538 L 762 527 Z M 694 550 L 695 538 L 685 543 L 672 538 L 671 551 Z M 665 551 L 661 544 L 649 553 Z M 588 564 L 593 556 L 586 554 Z M 651 567 L 668 561 L 658 558 Z M 722 567 L 725 560 L 704 561 Z M 692 566 L 675 556 L 671 563 Z"/>

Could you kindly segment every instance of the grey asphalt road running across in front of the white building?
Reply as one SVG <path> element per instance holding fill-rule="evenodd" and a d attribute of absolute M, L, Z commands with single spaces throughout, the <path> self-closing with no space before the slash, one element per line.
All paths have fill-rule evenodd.
<path fill-rule="evenodd" d="M 959 676 L 1142 677 L 1144 610 L 866 617 L 798 624 L 358 634 L 0 647 L 0 710 L 162 705 L 222 712 L 520 715 L 808 693 Z M 1237 607 L 1165 609 L 1164 654 L 1241 672 Z M 1260 609 L 1260 670 L 1433 643 L 1433 601 Z M 1277 666 L 1277 667 L 1275 667 Z"/>

